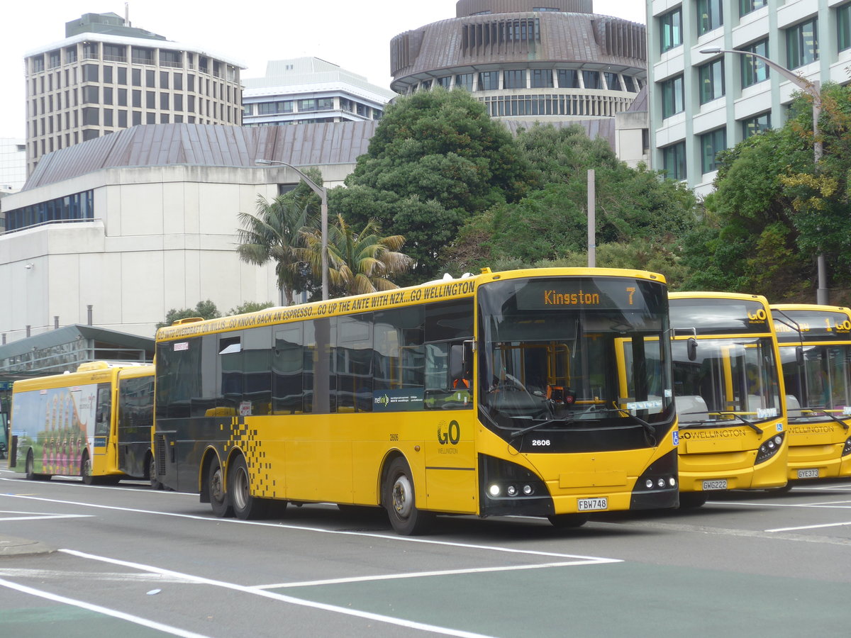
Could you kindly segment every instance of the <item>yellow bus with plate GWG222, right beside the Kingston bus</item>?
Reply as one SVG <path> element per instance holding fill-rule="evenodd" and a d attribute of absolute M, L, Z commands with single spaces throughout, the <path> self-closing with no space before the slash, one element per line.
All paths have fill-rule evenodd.
<path fill-rule="evenodd" d="M 680 504 L 783 487 L 789 441 L 780 354 L 756 294 L 670 293 Z"/>

